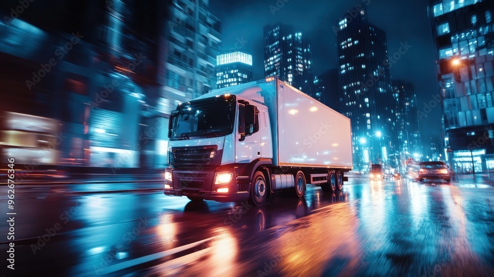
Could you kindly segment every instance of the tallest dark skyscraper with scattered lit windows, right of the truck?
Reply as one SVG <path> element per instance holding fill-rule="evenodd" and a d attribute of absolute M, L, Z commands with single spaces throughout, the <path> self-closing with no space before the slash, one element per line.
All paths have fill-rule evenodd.
<path fill-rule="evenodd" d="M 397 166 L 396 114 L 386 33 L 369 23 L 367 9 L 337 22 L 342 112 L 352 121 L 354 167 Z M 388 158 L 391 156 L 391 158 Z"/>

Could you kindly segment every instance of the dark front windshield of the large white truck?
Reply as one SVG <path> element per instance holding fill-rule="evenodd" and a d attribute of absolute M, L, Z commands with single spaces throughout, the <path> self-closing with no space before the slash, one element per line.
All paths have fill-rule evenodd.
<path fill-rule="evenodd" d="M 236 97 L 193 100 L 172 112 L 170 139 L 213 138 L 230 135 L 235 122 Z"/>

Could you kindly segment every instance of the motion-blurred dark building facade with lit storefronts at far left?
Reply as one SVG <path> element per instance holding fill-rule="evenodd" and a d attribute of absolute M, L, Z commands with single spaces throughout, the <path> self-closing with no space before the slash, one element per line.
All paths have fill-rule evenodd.
<path fill-rule="evenodd" d="M 166 1 L 43 1 L 2 21 L 0 58 L 14 69 L 0 78 L 12 103 L 1 107 L 9 119 L 3 154 L 17 153 L 29 170 L 139 167 L 139 121 L 150 106 L 144 89 L 156 84 L 159 52 L 147 38 L 158 34 L 155 22 L 167 9 Z M 27 118 L 57 128 L 18 124 Z"/>

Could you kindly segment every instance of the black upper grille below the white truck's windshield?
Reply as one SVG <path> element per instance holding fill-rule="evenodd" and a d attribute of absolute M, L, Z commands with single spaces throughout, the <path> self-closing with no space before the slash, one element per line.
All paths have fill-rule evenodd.
<path fill-rule="evenodd" d="M 218 145 L 172 148 L 173 160 L 182 165 L 208 165 L 212 162 L 217 149 Z"/>

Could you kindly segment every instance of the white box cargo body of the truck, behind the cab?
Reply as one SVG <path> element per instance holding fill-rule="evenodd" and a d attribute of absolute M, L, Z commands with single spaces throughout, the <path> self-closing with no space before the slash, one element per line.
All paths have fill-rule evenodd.
<path fill-rule="evenodd" d="M 351 169 L 350 119 L 284 82 L 273 84 L 270 93 L 277 101 L 269 103 L 268 110 L 276 131 L 274 164 Z"/>

